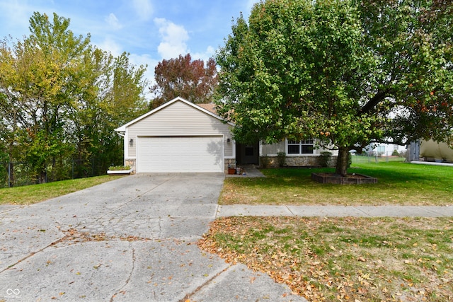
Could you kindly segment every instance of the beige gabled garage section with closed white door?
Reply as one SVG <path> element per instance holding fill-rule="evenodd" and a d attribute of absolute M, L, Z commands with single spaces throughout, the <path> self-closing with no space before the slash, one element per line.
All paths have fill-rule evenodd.
<path fill-rule="evenodd" d="M 213 108 L 175 98 L 115 129 L 124 137 L 125 165 L 136 173 L 224 173 L 236 159 L 234 124 Z"/>

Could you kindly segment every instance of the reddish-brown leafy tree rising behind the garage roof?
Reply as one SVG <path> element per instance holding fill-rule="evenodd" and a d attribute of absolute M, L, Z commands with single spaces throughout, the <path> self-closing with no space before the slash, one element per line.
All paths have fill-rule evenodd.
<path fill-rule="evenodd" d="M 156 98 L 151 108 L 180 96 L 192 103 L 210 103 L 218 83 L 214 59 L 205 65 L 202 59 L 193 60 L 190 54 L 176 59 L 164 59 L 154 69 L 156 83 L 151 92 Z"/>

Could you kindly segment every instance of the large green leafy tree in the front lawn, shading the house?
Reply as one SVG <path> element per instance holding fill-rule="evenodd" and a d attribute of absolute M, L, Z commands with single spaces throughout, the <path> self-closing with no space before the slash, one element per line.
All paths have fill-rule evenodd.
<path fill-rule="evenodd" d="M 217 53 L 219 113 L 239 141 L 316 138 L 348 151 L 452 136 L 452 4 L 268 0 Z"/>

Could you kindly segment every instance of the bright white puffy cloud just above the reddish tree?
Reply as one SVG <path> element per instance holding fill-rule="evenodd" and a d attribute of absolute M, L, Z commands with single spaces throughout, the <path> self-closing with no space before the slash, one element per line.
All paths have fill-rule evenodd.
<path fill-rule="evenodd" d="M 165 18 L 155 18 L 154 23 L 159 27 L 161 43 L 157 47 L 157 52 L 162 59 L 172 59 L 180 54 L 188 53 L 188 47 L 185 42 L 189 40 L 187 30 L 181 25 L 176 25 Z"/>

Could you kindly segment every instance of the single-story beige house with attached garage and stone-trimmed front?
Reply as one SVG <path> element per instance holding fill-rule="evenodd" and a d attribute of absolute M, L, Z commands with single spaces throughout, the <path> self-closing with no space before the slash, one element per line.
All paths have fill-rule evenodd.
<path fill-rule="evenodd" d="M 278 144 L 236 144 L 234 124 L 216 114 L 212 104 L 173 100 L 115 129 L 124 137 L 125 165 L 136 173 L 221 172 L 229 165 L 259 165 L 268 156 L 286 153 L 286 165 L 318 165 L 313 140 Z M 334 154 L 335 156 L 336 154 Z"/>

